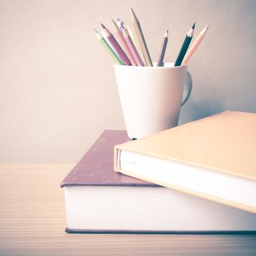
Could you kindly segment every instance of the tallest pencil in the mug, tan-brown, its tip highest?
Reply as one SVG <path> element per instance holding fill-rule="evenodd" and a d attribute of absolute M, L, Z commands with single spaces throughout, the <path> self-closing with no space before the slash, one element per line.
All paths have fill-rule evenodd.
<path fill-rule="evenodd" d="M 131 8 L 131 10 L 132 10 L 132 8 Z M 151 57 L 150 57 L 149 52 L 148 52 L 148 47 L 146 45 L 146 40 L 143 36 L 143 31 L 141 29 L 140 22 L 139 22 L 138 18 L 136 17 L 135 12 L 133 10 L 132 10 L 132 23 L 133 23 L 133 26 L 135 28 L 137 38 L 140 42 L 140 48 L 142 50 L 144 59 L 146 61 L 146 65 L 152 67 L 153 64 L 152 64 Z"/>

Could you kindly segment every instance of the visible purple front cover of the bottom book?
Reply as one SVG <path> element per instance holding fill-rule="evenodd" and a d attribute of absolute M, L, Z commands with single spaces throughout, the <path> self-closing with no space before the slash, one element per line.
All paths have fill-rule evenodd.
<path fill-rule="evenodd" d="M 124 176 L 113 170 L 114 146 L 129 141 L 127 132 L 105 130 L 80 162 L 71 170 L 61 187 L 68 186 L 146 186 L 155 184 Z"/>

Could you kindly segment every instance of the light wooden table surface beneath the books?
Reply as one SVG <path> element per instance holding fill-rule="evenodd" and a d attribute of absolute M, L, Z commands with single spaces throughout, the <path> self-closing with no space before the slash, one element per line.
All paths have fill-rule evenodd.
<path fill-rule="evenodd" d="M 73 164 L 0 164 L 0 255 L 256 255 L 252 235 L 67 234 Z"/>

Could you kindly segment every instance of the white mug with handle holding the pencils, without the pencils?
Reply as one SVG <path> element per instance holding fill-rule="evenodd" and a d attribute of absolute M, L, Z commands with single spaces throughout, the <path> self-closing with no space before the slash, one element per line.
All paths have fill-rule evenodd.
<path fill-rule="evenodd" d="M 192 91 L 187 66 L 114 65 L 127 134 L 131 139 L 176 127 L 181 106 Z"/>

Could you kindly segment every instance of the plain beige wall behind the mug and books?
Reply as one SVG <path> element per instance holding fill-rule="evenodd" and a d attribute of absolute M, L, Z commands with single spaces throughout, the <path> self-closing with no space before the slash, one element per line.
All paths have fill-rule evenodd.
<path fill-rule="evenodd" d="M 256 112 L 256 1 L 0 1 L 0 161 L 77 162 L 104 129 L 125 129 L 113 61 L 94 37 L 133 7 L 151 57 L 166 29 L 175 61 L 189 26 L 210 28 L 189 61 L 180 124 Z"/>

